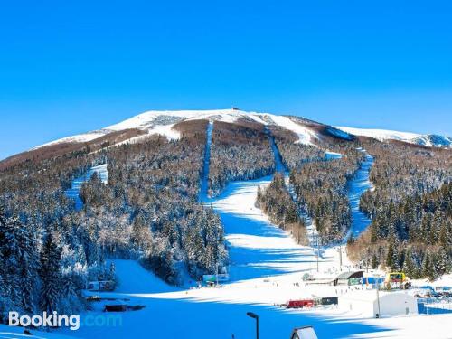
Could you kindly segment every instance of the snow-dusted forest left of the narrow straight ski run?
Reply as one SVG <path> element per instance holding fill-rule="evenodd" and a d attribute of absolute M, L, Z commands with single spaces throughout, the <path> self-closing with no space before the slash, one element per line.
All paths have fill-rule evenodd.
<path fill-rule="evenodd" d="M 178 124 L 178 141 L 150 137 L 91 155 L 77 151 L 2 170 L 0 261 L 7 264 L 0 270 L 0 292 L 6 296 L 0 308 L 44 309 L 40 296 L 45 295 L 52 297 L 46 308 L 71 314 L 83 307 L 80 290 L 87 281 L 113 278 L 105 267 L 107 257 L 139 259 L 173 284 L 183 272 L 197 279 L 224 266 L 220 218 L 197 203 L 206 124 Z M 102 163 L 108 163 L 108 185 L 93 175 L 82 186 L 84 206 L 76 212 L 64 190 Z M 33 295 L 26 302 L 22 286 Z M 48 288 L 45 294 L 42 287 Z"/>

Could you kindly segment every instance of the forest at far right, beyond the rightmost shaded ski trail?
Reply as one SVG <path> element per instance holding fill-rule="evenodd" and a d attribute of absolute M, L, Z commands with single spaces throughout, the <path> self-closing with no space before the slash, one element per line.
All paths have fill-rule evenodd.
<path fill-rule="evenodd" d="M 364 139 L 374 156 L 375 190 L 361 209 L 370 228 L 351 241 L 356 261 L 403 269 L 410 278 L 434 280 L 450 271 L 452 259 L 452 152 L 446 149 Z"/>

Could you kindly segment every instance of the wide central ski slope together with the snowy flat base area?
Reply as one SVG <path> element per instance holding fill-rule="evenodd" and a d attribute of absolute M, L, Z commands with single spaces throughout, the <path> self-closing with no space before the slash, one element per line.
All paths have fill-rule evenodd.
<path fill-rule="evenodd" d="M 356 178 L 359 177 L 357 174 Z M 85 326 L 75 333 L 70 330 L 59 332 L 83 338 L 111 339 L 180 336 L 226 339 L 232 334 L 238 339 L 250 338 L 254 336 L 254 323 L 246 313 L 252 311 L 259 314 L 260 337 L 263 339 L 288 338 L 293 328 L 303 325 L 313 325 L 319 338 L 412 339 L 433 333 L 428 327 L 436 328 L 438 338 L 448 337 L 447 325 L 444 324 L 450 321 L 451 316 L 447 315 L 362 319 L 361 315 L 336 307 L 287 310 L 274 306 L 291 298 L 312 297 L 313 294 L 331 297 L 344 293 L 338 290 L 347 287 L 303 284 L 304 272 L 315 269 L 315 252 L 310 247 L 297 245 L 254 206 L 258 186 L 269 184 L 271 178 L 233 182 L 219 197 L 210 200 L 221 215 L 230 246 L 231 284 L 219 288 L 181 290 L 168 287 L 133 260 L 115 260 L 121 284 L 114 293 L 99 295 L 127 298 L 129 305 L 146 307 L 137 312 L 114 314 L 122 320 L 122 325 L 117 327 Z M 337 268 L 335 250 L 325 249 L 321 272 Z M 266 276 L 269 277 L 264 279 Z M 105 316 L 102 312 L 105 303 L 115 302 L 93 303 L 94 311 L 89 315 Z"/>

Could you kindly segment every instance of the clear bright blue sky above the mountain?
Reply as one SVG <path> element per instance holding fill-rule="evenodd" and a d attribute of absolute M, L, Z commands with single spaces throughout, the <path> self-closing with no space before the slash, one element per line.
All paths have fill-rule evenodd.
<path fill-rule="evenodd" d="M 435 0 L 5 2 L 0 158 L 147 109 L 452 135 L 451 13 Z"/>

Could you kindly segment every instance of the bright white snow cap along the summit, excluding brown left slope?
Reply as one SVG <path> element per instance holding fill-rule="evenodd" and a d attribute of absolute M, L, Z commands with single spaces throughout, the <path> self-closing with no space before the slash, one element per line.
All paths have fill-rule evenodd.
<path fill-rule="evenodd" d="M 374 137 L 379 140 L 400 140 L 422 146 L 452 146 L 452 138 L 438 136 L 434 134 L 421 135 L 410 132 L 400 132 L 386 129 L 365 129 L 353 127 L 331 127 L 317 123 L 306 118 L 280 116 L 270 113 L 247 112 L 239 109 L 212 109 L 212 110 L 174 110 L 158 111 L 150 110 L 139 114 L 133 118 L 128 118 L 118 124 L 90 131 L 77 136 L 64 137 L 33 148 L 39 149 L 43 146 L 55 146 L 58 144 L 77 144 L 87 143 L 102 137 L 124 131 L 135 130 L 137 133 L 121 137 L 117 143 L 138 142 L 140 139 L 150 135 L 159 134 L 168 139 L 178 139 L 180 133 L 174 129 L 174 125 L 187 120 L 208 119 L 211 121 L 224 121 L 234 123 L 238 120 L 249 120 L 258 122 L 266 126 L 277 126 L 294 132 L 297 137 L 297 143 L 304 145 L 315 145 L 315 140 L 321 138 L 322 134 L 332 137 L 350 139 L 353 136 Z"/>

